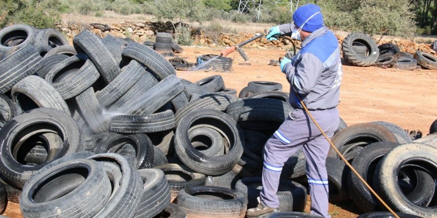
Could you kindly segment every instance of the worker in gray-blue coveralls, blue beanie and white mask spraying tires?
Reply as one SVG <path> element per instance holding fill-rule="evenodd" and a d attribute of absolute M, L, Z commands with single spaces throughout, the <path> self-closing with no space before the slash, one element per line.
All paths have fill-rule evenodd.
<path fill-rule="evenodd" d="M 311 214 L 330 218 L 325 167 L 329 142 L 303 110 L 297 96 L 326 135 L 332 137 L 340 122 L 337 110 L 342 78 L 339 44 L 324 25 L 320 7 L 315 4 L 297 8 L 293 22 L 272 27 L 267 39 L 277 40 L 277 35 L 290 34 L 291 38 L 302 41 L 301 50 L 291 59 L 284 57 L 280 63 L 281 71 L 290 82 L 293 110 L 265 145 L 259 204 L 249 209 L 247 216 L 257 217 L 278 210 L 280 205 L 276 193 L 284 163 L 303 149 Z"/>

